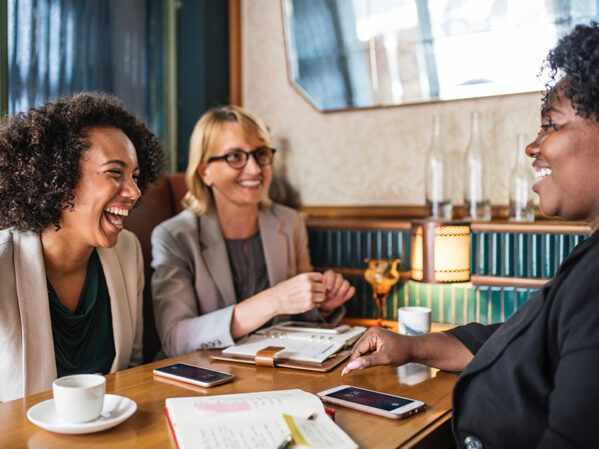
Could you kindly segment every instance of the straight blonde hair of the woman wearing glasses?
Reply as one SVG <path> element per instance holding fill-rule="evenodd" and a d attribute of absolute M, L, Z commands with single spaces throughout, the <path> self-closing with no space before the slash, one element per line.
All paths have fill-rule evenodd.
<path fill-rule="evenodd" d="M 224 123 L 239 123 L 246 138 L 256 138 L 264 145 L 272 146 L 264 122 L 245 109 L 229 105 L 209 109 L 196 123 L 189 139 L 189 160 L 185 170 L 185 183 L 188 192 L 181 203 L 196 215 L 208 214 L 214 210 L 212 189 L 204 184 L 198 174 L 198 167 L 208 162 L 215 150 L 215 143 Z M 270 206 L 268 192 L 260 202 L 261 207 Z"/>

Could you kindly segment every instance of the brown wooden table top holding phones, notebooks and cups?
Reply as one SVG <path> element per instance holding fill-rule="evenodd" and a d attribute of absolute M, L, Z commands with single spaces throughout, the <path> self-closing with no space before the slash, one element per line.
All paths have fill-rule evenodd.
<path fill-rule="evenodd" d="M 200 351 L 106 376 L 106 392 L 133 399 L 138 409 L 127 421 L 99 433 L 62 435 L 31 424 L 26 417 L 27 410 L 32 405 L 51 398 L 51 391 L 0 404 L 0 447 L 176 448 L 164 413 L 164 400 L 168 397 L 290 388 L 316 393 L 340 384 L 420 399 L 427 405 L 425 412 L 399 421 L 335 407 L 337 424 L 360 448 L 447 448 L 452 445 L 449 420 L 451 391 L 457 379 L 455 374 L 412 364 L 399 368 L 376 367 L 341 377 L 341 367 L 330 373 L 257 368 L 253 365 L 211 361 L 210 353 Z M 152 369 L 174 362 L 227 371 L 234 374 L 236 380 L 213 388 L 202 388 L 162 380 L 152 374 Z"/>

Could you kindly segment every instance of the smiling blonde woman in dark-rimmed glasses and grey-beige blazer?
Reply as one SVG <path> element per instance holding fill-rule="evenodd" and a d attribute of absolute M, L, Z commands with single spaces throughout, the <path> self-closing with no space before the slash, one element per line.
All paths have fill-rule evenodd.
<path fill-rule="evenodd" d="M 185 210 L 152 233 L 152 294 L 162 348 L 219 348 L 281 320 L 338 322 L 354 294 L 310 265 L 299 213 L 268 198 L 275 149 L 264 123 L 237 106 L 197 122 Z"/>

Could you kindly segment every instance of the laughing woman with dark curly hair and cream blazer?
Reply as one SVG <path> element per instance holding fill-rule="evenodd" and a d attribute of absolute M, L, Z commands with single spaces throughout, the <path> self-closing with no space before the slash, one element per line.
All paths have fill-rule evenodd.
<path fill-rule="evenodd" d="M 0 401 L 141 362 L 143 261 L 123 216 L 164 166 L 115 97 L 59 98 L 0 125 Z"/>

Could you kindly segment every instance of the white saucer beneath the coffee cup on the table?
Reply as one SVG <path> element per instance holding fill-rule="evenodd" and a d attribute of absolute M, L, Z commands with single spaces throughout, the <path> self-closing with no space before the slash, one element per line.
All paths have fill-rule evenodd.
<path fill-rule="evenodd" d="M 42 429 L 51 432 L 80 434 L 109 429 L 122 423 L 137 410 L 137 404 L 129 398 L 116 394 L 104 396 L 102 415 L 85 423 L 68 423 L 58 416 L 54 399 L 40 402 L 27 411 L 27 419 Z"/>

